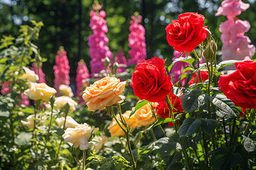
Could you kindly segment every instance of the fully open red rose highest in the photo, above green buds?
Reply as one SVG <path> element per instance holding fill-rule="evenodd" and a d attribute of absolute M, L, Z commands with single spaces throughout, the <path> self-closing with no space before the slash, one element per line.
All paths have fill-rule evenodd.
<path fill-rule="evenodd" d="M 166 27 L 168 44 L 179 52 L 192 52 L 207 37 L 207 27 L 203 25 L 203 15 L 193 12 L 180 14 L 179 20 L 172 20 L 172 24 Z"/>

